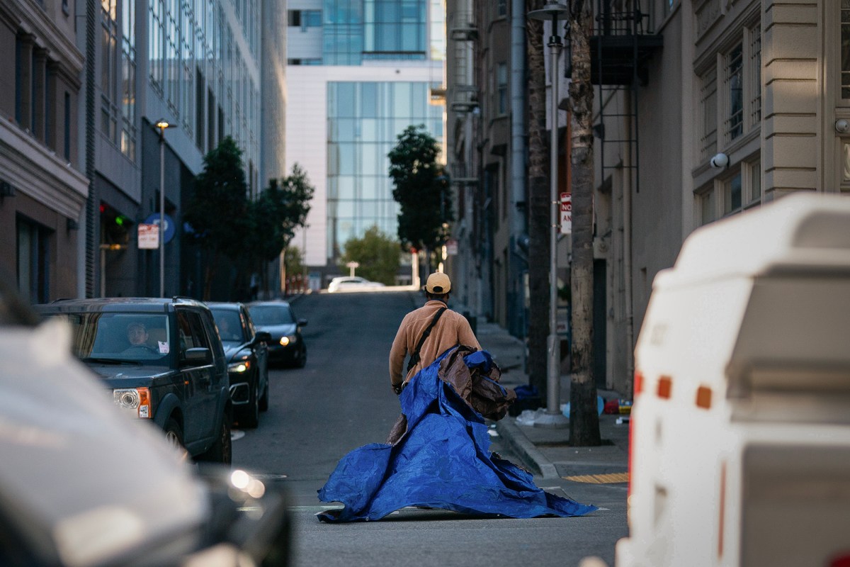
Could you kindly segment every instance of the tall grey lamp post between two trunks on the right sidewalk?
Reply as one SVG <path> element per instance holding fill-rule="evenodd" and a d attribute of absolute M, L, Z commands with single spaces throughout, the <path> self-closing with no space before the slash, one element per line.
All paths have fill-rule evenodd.
<path fill-rule="evenodd" d="M 536 427 L 564 428 L 567 418 L 561 413 L 561 353 L 558 343 L 558 57 L 561 54 L 561 37 L 558 36 L 558 20 L 567 18 L 570 9 L 564 4 L 547 3 L 542 9 L 532 10 L 528 17 L 533 20 L 552 20 L 552 34 L 549 36 L 549 75 L 552 81 L 552 100 L 550 106 L 550 159 L 549 188 L 552 197 L 552 226 L 549 230 L 549 336 L 547 337 L 547 405 L 546 412 L 535 419 Z"/>

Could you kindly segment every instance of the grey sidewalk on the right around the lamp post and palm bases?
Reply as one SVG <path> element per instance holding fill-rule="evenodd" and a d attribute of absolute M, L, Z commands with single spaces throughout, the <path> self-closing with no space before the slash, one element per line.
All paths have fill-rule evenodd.
<path fill-rule="evenodd" d="M 479 320 L 477 336 L 481 346 L 493 355 L 502 371 L 501 385 L 516 388 L 528 383 L 523 369 L 524 345 L 496 323 Z M 615 400 L 619 394 L 599 390 L 605 400 Z M 570 401 L 570 377 L 561 377 L 560 404 Z M 628 416 L 602 414 L 599 430 L 604 445 L 570 447 L 570 427 L 540 428 L 520 425 L 516 417 L 504 417 L 496 422 L 496 431 L 532 473 L 544 479 L 584 477 L 586 482 L 625 482 L 628 468 Z M 621 421 L 621 423 L 618 423 Z M 592 476 L 589 476 L 592 475 Z M 606 475 L 599 477 L 598 475 Z M 576 479 L 578 480 L 578 479 Z"/>

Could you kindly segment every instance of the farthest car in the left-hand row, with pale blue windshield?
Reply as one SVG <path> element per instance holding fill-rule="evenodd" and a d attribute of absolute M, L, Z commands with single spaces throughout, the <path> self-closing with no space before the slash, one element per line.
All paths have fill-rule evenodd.
<path fill-rule="evenodd" d="M 248 303 L 248 311 L 259 331 L 269 332 L 269 361 L 284 362 L 298 368 L 307 364 L 307 344 L 301 327 L 306 319 L 297 319 L 292 305 L 285 301 Z"/>

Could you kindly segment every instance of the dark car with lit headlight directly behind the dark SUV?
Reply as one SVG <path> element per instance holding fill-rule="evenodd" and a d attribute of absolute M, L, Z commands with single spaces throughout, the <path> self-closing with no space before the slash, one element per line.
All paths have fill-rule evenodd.
<path fill-rule="evenodd" d="M 257 331 L 242 303 L 210 303 L 218 326 L 230 377 L 233 419 L 242 428 L 256 428 L 260 411 L 269 409 L 269 332 Z"/>

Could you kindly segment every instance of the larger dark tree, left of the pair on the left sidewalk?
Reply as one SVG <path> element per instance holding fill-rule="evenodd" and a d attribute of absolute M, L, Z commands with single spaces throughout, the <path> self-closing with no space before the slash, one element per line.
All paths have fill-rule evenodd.
<path fill-rule="evenodd" d="M 204 168 L 195 176 L 193 190 L 184 205 L 183 219 L 191 226 L 190 237 L 206 252 L 203 298 L 224 258 L 235 262 L 244 253 L 249 228 L 247 184 L 242 150 L 229 136 L 204 156 Z M 226 213 L 226 214 L 224 214 Z"/>

